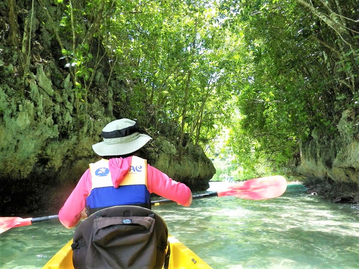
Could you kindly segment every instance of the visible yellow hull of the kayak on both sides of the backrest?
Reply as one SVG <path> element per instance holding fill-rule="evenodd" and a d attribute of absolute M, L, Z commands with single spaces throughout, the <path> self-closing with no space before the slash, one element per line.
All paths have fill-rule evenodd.
<path fill-rule="evenodd" d="M 169 258 L 169 269 L 191 269 L 201 268 L 209 269 L 211 266 L 206 264 L 192 250 L 183 245 L 180 241 L 171 235 L 168 235 L 168 241 L 171 246 L 171 256 Z M 43 269 L 71 269 L 72 263 L 72 240 L 70 240 L 62 249 L 59 250 L 43 267 Z"/>

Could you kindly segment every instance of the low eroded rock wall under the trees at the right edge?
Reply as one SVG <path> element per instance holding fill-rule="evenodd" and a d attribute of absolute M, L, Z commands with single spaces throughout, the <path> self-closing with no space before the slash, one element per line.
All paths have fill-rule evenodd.
<path fill-rule="evenodd" d="M 318 192 L 335 202 L 359 202 L 359 137 L 354 117 L 342 113 L 339 136 L 327 139 L 316 129 L 301 145 L 301 164 L 295 170 L 307 179 L 310 192 Z"/>

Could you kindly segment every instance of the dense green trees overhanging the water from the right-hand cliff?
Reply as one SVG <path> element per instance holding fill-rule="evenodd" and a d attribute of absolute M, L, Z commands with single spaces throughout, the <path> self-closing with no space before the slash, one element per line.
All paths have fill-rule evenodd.
<path fill-rule="evenodd" d="M 336 135 L 341 112 L 357 104 L 358 42 L 349 36 L 358 29 L 358 6 L 221 3 L 228 28 L 244 37 L 239 50 L 246 52 L 236 96 L 241 116 L 233 118 L 229 143 L 245 170 L 261 163 L 278 169 L 298 155 L 299 142 L 311 139 L 314 128 L 327 138 Z M 320 19 L 321 12 L 334 19 Z"/>

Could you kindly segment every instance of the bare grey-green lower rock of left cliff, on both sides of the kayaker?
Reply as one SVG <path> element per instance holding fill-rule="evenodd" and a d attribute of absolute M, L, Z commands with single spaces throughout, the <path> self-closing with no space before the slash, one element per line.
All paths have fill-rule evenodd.
<path fill-rule="evenodd" d="M 88 164 L 99 159 L 91 146 L 102 139 L 102 128 L 115 119 L 111 108 L 96 98 L 87 104 L 88 114 L 83 114 L 84 103 L 77 114 L 69 76 L 57 88 L 43 70 L 39 65 L 32 74 L 28 98 L 0 84 L 2 216 L 58 210 Z M 145 148 L 144 157 L 192 190 L 205 190 L 215 173 L 213 164 L 192 144 L 178 158 L 174 145 L 159 136 Z"/>

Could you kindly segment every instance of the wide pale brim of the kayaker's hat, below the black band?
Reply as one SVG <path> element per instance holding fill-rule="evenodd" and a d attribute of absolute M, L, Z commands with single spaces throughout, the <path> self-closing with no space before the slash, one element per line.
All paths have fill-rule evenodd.
<path fill-rule="evenodd" d="M 92 149 L 99 156 L 126 155 L 139 150 L 150 140 L 150 136 L 140 134 L 136 140 L 130 142 L 106 144 L 102 141 L 92 145 Z"/>

